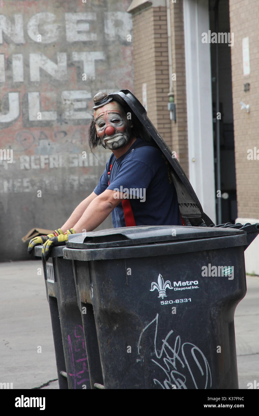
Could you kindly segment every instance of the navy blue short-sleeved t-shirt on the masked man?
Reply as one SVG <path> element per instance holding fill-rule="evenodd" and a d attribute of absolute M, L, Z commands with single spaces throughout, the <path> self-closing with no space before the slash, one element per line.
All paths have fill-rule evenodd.
<path fill-rule="evenodd" d="M 106 189 L 123 192 L 130 199 L 136 225 L 182 225 L 168 162 L 154 146 L 134 149 L 140 142 L 144 141 L 136 139 L 118 159 L 111 155 L 94 193 L 100 195 Z M 113 209 L 111 218 L 114 228 L 126 226 L 122 203 Z"/>

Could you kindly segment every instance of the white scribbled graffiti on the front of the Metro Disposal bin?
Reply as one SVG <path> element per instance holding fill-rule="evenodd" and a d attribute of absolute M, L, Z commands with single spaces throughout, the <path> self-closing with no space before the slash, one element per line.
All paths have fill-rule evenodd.
<path fill-rule="evenodd" d="M 195 389 L 211 388 L 212 376 L 209 363 L 196 345 L 190 342 L 184 342 L 181 345 L 180 336 L 178 335 L 173 339 L 173 330 L 170 330 L 165 339 L 161 340 L 161 347 L 158 346 L 158 314 L 142 329 L 138 340 L 138 354 L 141 355 L 141 342 L 144 343 L 143 334 L 147 329 L 150 334 L 152 325 L 155 334 L 152 346 L 154 351 L 151 352 L 151 357 L 155 356 L 156 359 L 151 359 L 151 361 L 166 376 L 163 381 L 153 379 L 154 384 L 160 385 L 162 389 L 187 389 L 186 384 L 189 385 L 193 382 Z M 143 358 L 137 361 L 141 362 Z"/>

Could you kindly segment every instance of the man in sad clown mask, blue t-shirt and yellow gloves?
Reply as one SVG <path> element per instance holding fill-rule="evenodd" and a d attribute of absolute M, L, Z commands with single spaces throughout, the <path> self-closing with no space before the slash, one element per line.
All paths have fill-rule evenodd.
<path fill-rule="evenodd" d="M 99 92 L 94 97 L 89 126 L 91 149 L 102 146 L 112 154 L 94 191 L 82 201 L 61 228 L 30 241 L 28 253 L 43 244 L 47 260 L 51 247 L 68 234 L 92 231 L 111 213 L 113 227 L 182 225 L 178 198 L 168 163 L 147 131 L 127 107 Z"/>

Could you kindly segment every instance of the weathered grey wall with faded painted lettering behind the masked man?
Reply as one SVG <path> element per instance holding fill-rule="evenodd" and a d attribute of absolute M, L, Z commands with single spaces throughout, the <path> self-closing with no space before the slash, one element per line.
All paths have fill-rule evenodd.
<path fill-rule="evenodd" d="M 130 0 L 83 1 L 1 1 L 0 261 L 93 191 L 110 154 L 89 151 L 93 97 L 133 91 Z"/>

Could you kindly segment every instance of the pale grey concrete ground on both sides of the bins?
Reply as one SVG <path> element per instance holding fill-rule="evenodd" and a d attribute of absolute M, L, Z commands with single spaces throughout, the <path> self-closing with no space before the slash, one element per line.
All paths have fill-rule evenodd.
<path fill-rule="evenodd" d="M 0 382 L 13 389 L 59 388 L 41 267 L 40 260 L 0 263 Z M 258 318 L 259 277 L 247 276 L 235 312 L 239 389 L 259 382 Z"/>

